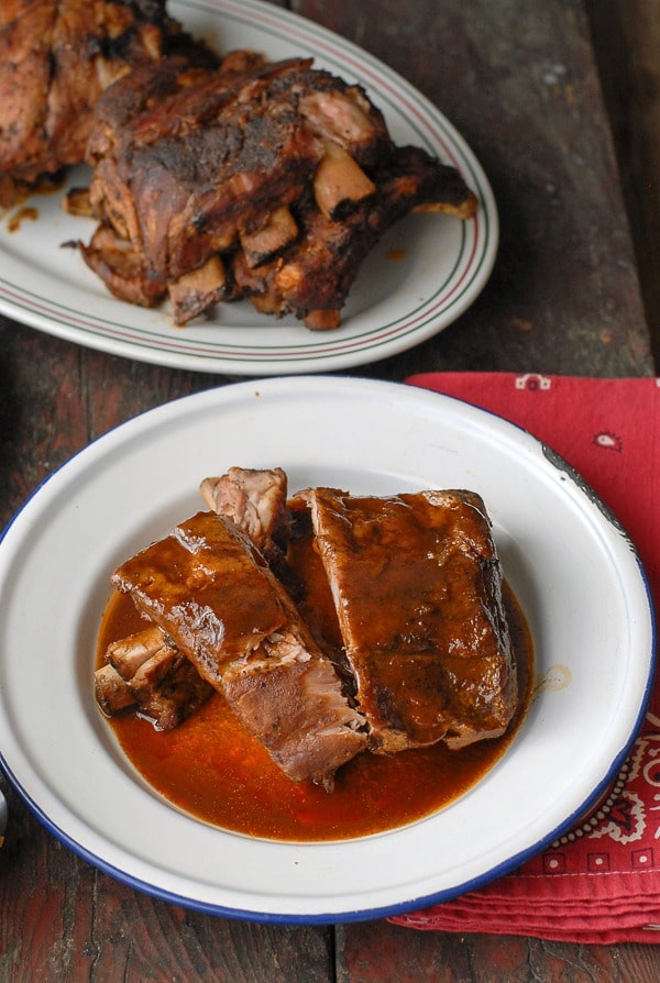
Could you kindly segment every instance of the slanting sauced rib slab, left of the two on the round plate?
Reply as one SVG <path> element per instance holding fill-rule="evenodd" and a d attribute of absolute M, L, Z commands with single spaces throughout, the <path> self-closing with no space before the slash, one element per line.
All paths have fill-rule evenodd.
<path fill-rule="evenodd" d="M 366 745 L 342 694 L 261 553 L 230 519 L 198 512 L 111 577 L 221 692 L 294 781 L 329 786 Z"/>

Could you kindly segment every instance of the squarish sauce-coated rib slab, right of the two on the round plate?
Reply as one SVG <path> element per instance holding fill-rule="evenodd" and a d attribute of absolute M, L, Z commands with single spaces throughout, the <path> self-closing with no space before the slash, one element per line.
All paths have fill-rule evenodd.
<path fill-rule="evenodd" d="M 482 499 L 330 488 L 296 497 L 311 510 L 372 749 L 502 735 L 517 676 Z"/>

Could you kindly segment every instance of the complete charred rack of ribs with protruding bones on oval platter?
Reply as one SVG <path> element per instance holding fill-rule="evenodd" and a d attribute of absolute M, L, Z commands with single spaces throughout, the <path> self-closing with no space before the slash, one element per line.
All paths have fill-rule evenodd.
<path fill-rule="evenodd" d="M 165 58 L 103 92 L 88 148 L 97 232 L 79 243 L 117 297 L 172 302 L 185 324 L 219 301 L 334 328 L 364 257 L 411 211 L 463 219 L 460 174 L 394 145 L 365 91 L 309 58 Z"/>

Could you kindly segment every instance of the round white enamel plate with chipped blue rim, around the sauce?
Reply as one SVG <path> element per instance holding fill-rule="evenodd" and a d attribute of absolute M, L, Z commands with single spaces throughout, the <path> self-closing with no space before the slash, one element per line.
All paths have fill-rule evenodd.
<path fill-rule="evenodd" d="M 531 629 L 538 693 L 502 760 L 432 817 L 333 843 L 224 832 L 163 800 L 101 718 L 92 670 L 109 573 L 197 511 L 200 479 L 233 464 L 280 465 L 292 489 L 468 487 L 485 499 Z M 19 794 L 56 837 L 134 887 L 258 920 L 402 913 L 510 870 L 616 774 L 653 662 L 636 553 L 561 461 L 483 410 L 361 379 L 244 382 L 102 437 L 6 531 L 0 596 L 0 748 Z"/>

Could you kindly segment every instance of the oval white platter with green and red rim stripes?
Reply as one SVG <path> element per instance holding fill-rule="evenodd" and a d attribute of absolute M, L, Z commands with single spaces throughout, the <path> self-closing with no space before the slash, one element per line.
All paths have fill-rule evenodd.
<path fill-rule="evenodd" d="M 113 298 L 77 252 L 62 248 L 67 241 L 89 241 L 94 223 L 64 214 L 59 194 L 42 195 L 0 221 L 0 311 L 116 355 L 250 376 L 329 372 L 385 358 L 463 313 L 491 274 L 497 212 L 479 162 L 438 109 L 355 45 L 282 8 L 258 0 L 178 0 L 168 10 L 218 51 L 250 47 L 273 59 L 311 55 L 316 67 L 361 84 L 397 143 L 422 146 L 459 168 L 480 199 L 476 217 L 411 216 L 392 229 L 360 270 L 337 331 L 311 332 L 294 318 L 277 321 L 248 301 L 220 305 L 209 320 L 182 329 L 166 306 L 145 310 Z M 88 178 L 85 168 L 74 170 L 67 186 Z M 30 207 L 36 221 L 16 221 Z"/>

